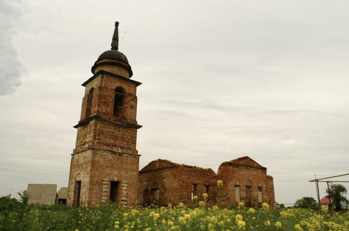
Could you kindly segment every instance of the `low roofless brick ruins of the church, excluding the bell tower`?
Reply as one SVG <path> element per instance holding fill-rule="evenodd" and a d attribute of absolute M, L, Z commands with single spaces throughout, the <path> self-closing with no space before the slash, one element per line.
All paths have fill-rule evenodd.
<path fill-rule="evenodd" d="M 138 201 L 159 206 L 191 204 L 193 195 L 204 201 L 202 194 L 206 192 L 208 204 L 261 206 L 267 202 L 273 207 L 273 178 L 266 173 L 265 167 L 249 157 L 222 163 L 218 174 L 212 169 L 157 159 L 139 172 Z M 223 181 L 222 188 L 217 187 L 217 180 Z"/>

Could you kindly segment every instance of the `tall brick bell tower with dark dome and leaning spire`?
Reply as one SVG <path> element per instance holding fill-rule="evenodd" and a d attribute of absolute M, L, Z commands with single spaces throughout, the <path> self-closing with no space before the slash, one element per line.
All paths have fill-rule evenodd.
<path fill-rule="evenodd" d="M 136 88 L 126 56 L 118 51 L 119 23 L 111 50 L 92 66 L 93 76 L 82 84 L 80 121 L 70 162 L 67 204 L 79 206 L 109 201 L 127 207 L 136 203 L 139 157 L 136 150 Z"/>

